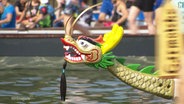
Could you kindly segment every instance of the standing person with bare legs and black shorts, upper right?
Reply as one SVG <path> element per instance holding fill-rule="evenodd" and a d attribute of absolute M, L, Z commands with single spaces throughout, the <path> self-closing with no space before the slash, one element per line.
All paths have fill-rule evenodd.
<path fill-rule="evenodd" d="M 136 18 L 141 10 L 144 13 L 145 22 L 148 25 L 149 34 L 155 34 L 155 26 L 153 24 L 154 3 L 155 0 L 135 0 L 134 4 L 130 7 L 128 25 L 132 35 L 137 34 Z"/>

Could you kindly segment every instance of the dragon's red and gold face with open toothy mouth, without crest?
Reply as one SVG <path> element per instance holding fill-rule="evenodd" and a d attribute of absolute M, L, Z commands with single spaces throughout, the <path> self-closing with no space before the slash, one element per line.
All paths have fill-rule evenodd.
<path fill-rule="evenodd" d="M 66 35 L 61 41 L 66 50 L 64 58 L 70 63 L 95 63 L 101 59 L 100 44 L 92 38 L 80 36 L 74 40 Z"/>

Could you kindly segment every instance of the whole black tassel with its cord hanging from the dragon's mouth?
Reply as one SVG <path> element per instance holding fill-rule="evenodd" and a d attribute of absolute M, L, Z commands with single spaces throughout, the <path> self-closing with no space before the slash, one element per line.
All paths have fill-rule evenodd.
<path fill-rule="evenodd" d="M 65 61 L 63 63 L 63 69 L 61 70 L 61 79 L 60 79 L 60 96 L 61 96 L 61 101 L 65 101 L 66 97 L 66 77 L 65 77 L 65 69 L 67 66 L 67 62 Z"/>

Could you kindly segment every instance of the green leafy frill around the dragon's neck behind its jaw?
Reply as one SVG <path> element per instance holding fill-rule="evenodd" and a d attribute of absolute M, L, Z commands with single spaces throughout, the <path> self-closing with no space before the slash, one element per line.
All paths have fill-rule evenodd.
<path fill-rule="evenodd" d="M 102 59 L 100 60 L 100 62 L 89 63 L 87 65 L 89 65 L 91 67 L 95 67 L 97 69 L 99 69 L 99 68 L 106 69 L 107 67 L 114 65 L 114 62 L 112 60 L 115 58 L 116 58 L 116 56 L 113 55 L 112 52 L 107 52 L 107 53 L 102 55 Z"/>

